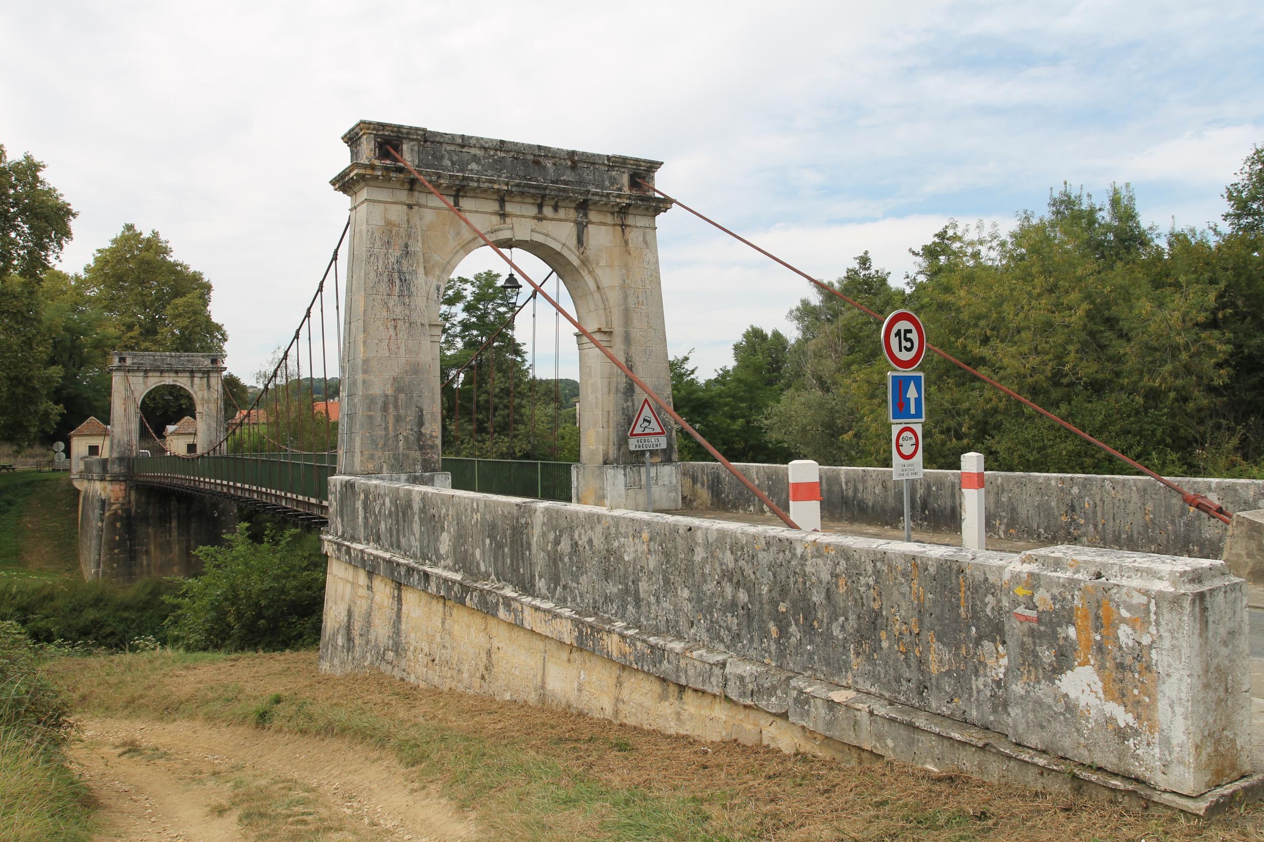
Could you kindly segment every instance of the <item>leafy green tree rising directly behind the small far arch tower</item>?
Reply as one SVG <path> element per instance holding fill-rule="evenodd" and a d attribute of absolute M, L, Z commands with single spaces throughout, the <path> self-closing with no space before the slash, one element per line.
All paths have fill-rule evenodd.
<path fill-rule="evenodd" d="M 211 282 L 172 256 L 157 231 L 130 222 L 97 249 L 83 271 L 94 305 L 128 351 L 221 351 L 224 326 L 211 318 Z"/>

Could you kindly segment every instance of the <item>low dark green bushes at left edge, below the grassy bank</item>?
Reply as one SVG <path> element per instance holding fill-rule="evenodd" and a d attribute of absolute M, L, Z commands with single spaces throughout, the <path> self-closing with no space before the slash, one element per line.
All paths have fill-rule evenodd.
<path fill-rule="evenodd" d="M 179 584 L 144 579 L 131 587 L 66 579 L 47 584 L 15 582 L 0 588 L 0 620 L 15 620 L 38 643 L 86 641 L 126 649 L 138 637 L 167 643 L 167 596 Z"/>

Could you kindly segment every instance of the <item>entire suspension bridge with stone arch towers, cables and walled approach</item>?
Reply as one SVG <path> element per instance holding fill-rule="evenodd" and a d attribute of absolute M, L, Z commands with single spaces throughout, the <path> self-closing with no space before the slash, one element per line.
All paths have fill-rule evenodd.
<path fill-rule="evenodd" d="M 245 405 L 225 401 L 222 355 L 115 355 L 111 452 L 83 460 L 76 478 L 88 576 L 171 571 L 163 559 L 214 540 L 246 504 L 325 526 L 324 669 L 1196 813 L 1264 792 L 1250 756 L 1245 584 L 1205 557 L 1235 520 L 1226 500 L 1251 504 L 1255 491 L 1191 490 L 988 377 L 986 361 L 928 346 L 1168 496 L 1138 491 L 1144 516 L 1116 530 L 1126 547 L 1073 545 L 1107 524 L 1090 523 L 1081 497 L 1035 535 L 1079 542 L 1021 555 L 800 530 L 774 499 L 785 497 L 772 466 L 732 465 L 672 406 L 657 217 L 679 207 L 881 313 L 669 196 L 659 162 L 370 121 L 343 140 L 350 163 L 332 186 L 350 217 Z M 444 288 L 484 246 L 514 302 L 503 324 L 445 357 Z M 550 275 L 532 279 L 511 250 Z M 536 377 L 533 356 L 526 379 L 497 365 L 516 353 L 527 304 L 555 313 L 555 347 L 561 322 L 575 331 L 574 462 L 556 458 L 556 374 Z M 142 452 L 140 427 L 157 436 L 140 403 L 157 385 L 193 394 L 196 452 Z M 643 399 L 674 422 L 648 465 L 627 442 Z M 537 439 L 541 412 L 552 429 Z M 530 458 L 445 454 L 445 428 L 449 453 L 458 437 L 474 453 L 521 439 L 523 417 Z M 680 463 L 678 434 L 715 465 Z M 679 514 L 703 486 L 789 529 Z M 1098 495 L 1111 516 L 1124 511 L 1117 489 Z M 641 511 L 650 490 L 672 514 Z M 1165 501 L 1154 543 L 1136 545 Z M 1173 558 L 1194 550 L 1203 557 Z"/>

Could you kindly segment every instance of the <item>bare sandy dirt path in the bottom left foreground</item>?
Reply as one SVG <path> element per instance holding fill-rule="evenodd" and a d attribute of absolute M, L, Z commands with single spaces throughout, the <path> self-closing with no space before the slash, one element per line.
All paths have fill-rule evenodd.
<path fill-rule="evenodd" d="M 339 740 L 86 718 L 72 756 L 100 803 L 101 842 L 478 837 L 393 757 Z"/>

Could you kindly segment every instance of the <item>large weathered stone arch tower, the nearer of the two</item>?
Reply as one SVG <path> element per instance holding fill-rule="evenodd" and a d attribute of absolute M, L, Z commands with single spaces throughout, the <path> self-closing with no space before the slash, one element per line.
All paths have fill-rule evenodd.
<path fill-rule="evenodd" d="M 670 203 L 640 183 L 653 183 L 660 162 L 369 121 L 343 140 L 351 163 L 332 181 L 351 201 L 340 473 L 440 470 L 440 300 L 451 273 L 483 245 L 388 146 L 498 246 L 549 264 L 579 323 L 670 400 L 656 235 L 656 217 Z M 628 451 L 627 428 L 643 395 L 578 341 L 583 428 L 574 501 L 642 509 L 643 456 Z M 680 506 L 670 428 L 667 444 L 652 470 L 656 509 Z"/>

